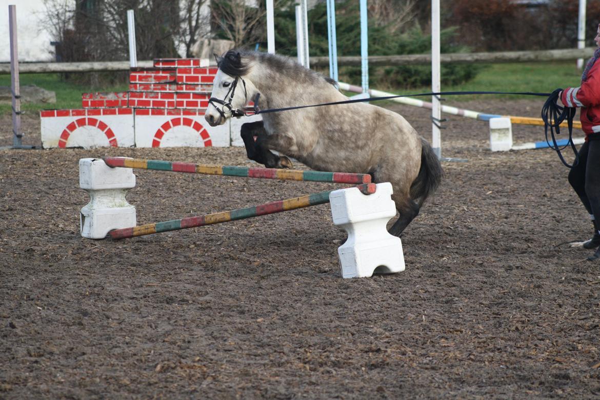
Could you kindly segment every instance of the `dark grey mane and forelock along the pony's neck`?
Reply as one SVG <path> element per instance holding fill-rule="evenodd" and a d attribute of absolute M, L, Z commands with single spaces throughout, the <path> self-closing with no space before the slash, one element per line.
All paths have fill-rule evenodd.
<path fill-rule="evenodd" d="M 229 50 L 223 57 L 217 59 L 217 67 L 229 76 L 244 76 L 250 70 L 250 62 L 245 62 L 244 59 L 256 60 L 268 67 L 269 70 L 281 71 L 290 74 L 290 76 L 304 76 L 313 82 L 325 80 L 332 86 L 337 85 L 335 80 L 313 70 L 308 70 L 289 57 L 269 53 Z"/>

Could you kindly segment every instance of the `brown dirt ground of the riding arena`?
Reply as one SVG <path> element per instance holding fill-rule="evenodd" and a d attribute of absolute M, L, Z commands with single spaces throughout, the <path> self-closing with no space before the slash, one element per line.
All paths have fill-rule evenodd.
<path fill-rule="evenodd" d="M 461 106 L 538 116 L 542 103 Z M 390 107 L 431 138 L 427 110 Z M 600 263 L 567 243 L 592 233 L 568 170 L 550 150 L 491 153 L 485 122 L 447 117 L 443 156 L 468 162 L 443 163 L 402 237 L 406 270 L 364 279 L 340 278 L 326 204 L 80 236 L 79 158 L 251 166 L 241 148 L 0 151 L 0 398 L 598 398 Z M 23 127 L 38 144 L 39 119 Z M 139 224 L 336 187 L 136 175 Z"/>

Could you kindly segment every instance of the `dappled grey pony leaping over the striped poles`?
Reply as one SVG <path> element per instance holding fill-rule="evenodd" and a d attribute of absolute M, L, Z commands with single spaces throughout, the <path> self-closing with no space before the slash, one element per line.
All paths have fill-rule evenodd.
<path fill-rule="evenodd" d="M 284 56 L 230 50 L 217 63 L 205 115 L 213 127 L 243 115 L 250 100 L 262 110 L 348 100 L 334 81 Z M 390 182 L 400 212 L 390 229 L 396 236 L 442 179 L 442 167 L 427 141 L 401 115 L 382 107 L 340 104 L 265 113 L 262 119 L 241 128 L 250 160 L 268 168 L 291 168 L 289 158 L 274 150 L 314 170 L 368 173 L 373 182 Z"/>

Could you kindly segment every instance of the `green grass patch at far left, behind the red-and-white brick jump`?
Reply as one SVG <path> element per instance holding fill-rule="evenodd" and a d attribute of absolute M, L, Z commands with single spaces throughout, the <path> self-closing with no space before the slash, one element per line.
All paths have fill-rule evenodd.
<path fill-rule="evenodd" d="M 128 84 L 116 86 L 88 86 L 63 82 L 58 74 L 20 74 L 20 86 L 35 85 L 56 93 L 56 103 L 21 103 L 26 113 L 38 113 L 44 109 L 80 109 L 81 95 L 85 92 L 122 92 L 128 90 Z M 0 86 L 10 87 L 10 74 L 0 75 Z M 2 115 L 11 113 L 11 104 L 0 104 Z"/>

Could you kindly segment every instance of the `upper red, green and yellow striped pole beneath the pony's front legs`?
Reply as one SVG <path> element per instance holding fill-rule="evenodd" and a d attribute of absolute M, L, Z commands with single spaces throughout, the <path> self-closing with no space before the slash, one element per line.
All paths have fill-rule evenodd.
<path fill-rule="evenodd" d="M 176 163 L 160 160 L 106 157 L 109 167 L 125 167 L 145 170 L 198 173 L 203 175 L 239 176 L 242 178 L 282 179 L 284 181 L 331 182 L 335 184 L 370 184 L 371 175 L 347 172 L 320 172 L 284 170 L 274 168 L 246 168 L 235 166 L 208 166 L 193 163 Z"/>

